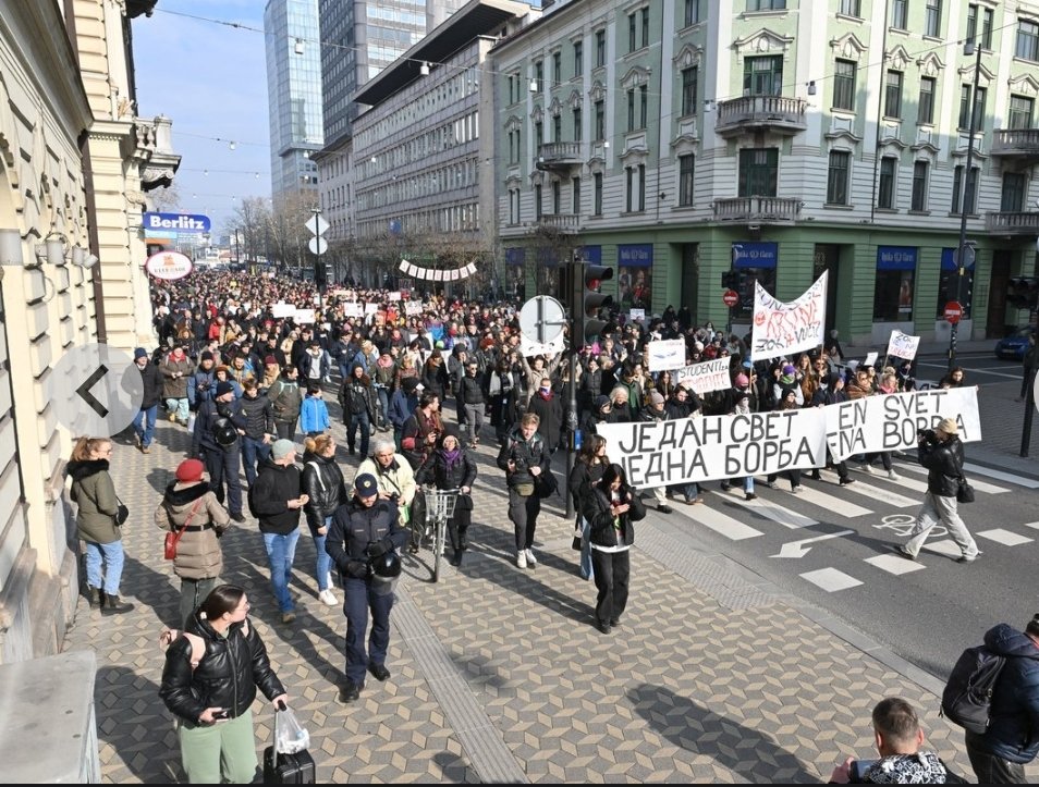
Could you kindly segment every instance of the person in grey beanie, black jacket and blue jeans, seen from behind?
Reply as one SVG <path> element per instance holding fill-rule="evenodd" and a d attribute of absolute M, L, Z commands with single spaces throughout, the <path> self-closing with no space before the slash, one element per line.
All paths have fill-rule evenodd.
<path fill-rule="evenodd" d="M 310 497 L 303 492 L 303 478 L 296 467 L 296 446 L 291 440 L 276 440 L 266 462 L 249 489 L 249 508 L 259 520 L 270 585 L 281 610 L 281 622 L 296 619 L 295 604 L 289 592 L 292 562 L 300 540 L 300 509 Z"/>

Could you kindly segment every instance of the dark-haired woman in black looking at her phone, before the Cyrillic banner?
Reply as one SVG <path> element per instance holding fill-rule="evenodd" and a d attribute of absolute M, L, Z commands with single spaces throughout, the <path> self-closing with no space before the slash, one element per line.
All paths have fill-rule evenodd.
<path fill-rule="evenodd" d="M 610 465 L 582 501 L 582 513 L 590 528 L 591 565 L 599 591 L 596 628 L 610 634 L 627 606 L 633 522 L 646 516 L 646 506 L 627 485 L 624 468 Z"/>

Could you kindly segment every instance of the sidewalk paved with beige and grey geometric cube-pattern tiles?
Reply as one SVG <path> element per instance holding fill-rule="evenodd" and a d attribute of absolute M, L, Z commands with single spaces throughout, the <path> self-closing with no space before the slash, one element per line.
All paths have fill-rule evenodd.
<path fill-rule="evenodd" d="M 183 780 L 172 718 L 157 696 L 157 637 L 174 623 L 179 580 L 162 559 L 151 513 L 188 438 L 160 422 L 159 443 L 147 456 L 118 445 L 112 459 L 133 512 L 123 592 L 137 607 L 105 618 L 81 599 L 65 642 L 97 652 L 109 783 Z M 345 620 L 316 598 L 310 540 L 301 539 L 296 555 L 300 616 L 285 626 L 255 522 L 222 539 L 223 579 L 249 594 L 311 733 L 318 782 L 819 783 L 844 755 L 871 755 L 869 713 L 891 694 L 920 709 L 929 746 L 969 773 L 962 730 L 937 715 L 938 680 L 697 551 L 695 532 L 687 541 L 665 536 L 656 513 L 637 529 L 623 624 L 613 636 L 599 634 L 595 587 L 577 577 L 561 500 L 542 515 L 537 568 L 521 570 L 491 448 L 481 447 L 479 459 L 464 565 L 433 585 L 428 551 L 405 561 L 387 662 L 393 676 L 369 680 L 352 706 L 335 699 Z M 344 470 L 352 478 L 353 463 Z M 260 749 L 271 716 L 265 709 L 258 720 Z"/>

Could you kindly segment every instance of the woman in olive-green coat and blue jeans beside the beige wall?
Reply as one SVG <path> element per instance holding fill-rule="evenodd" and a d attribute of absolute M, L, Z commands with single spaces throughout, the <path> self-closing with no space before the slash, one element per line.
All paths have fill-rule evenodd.
<path fill-rule="evenodd" d="M 130 612 L 134 605 L 120 601 L 123 576 L 123 536 L 115 524 L 119 497 L 109 475 L 112 441 L 80 438 L 72 450 L 68 472 L 76 511 L 76 534 L 86 544 L 87 600 L 102 614 Z"/>

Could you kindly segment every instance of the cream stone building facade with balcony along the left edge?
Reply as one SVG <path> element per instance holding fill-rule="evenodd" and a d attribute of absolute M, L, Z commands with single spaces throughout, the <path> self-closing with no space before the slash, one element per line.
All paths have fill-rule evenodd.
<path fill-rule="evenodd" d="M 155 343 L 140 214 L 179 157 L 130 42 L 156 2 L 0 0 L 0 663 L 54 653 L 76 604 L 54 367 Z"/>

